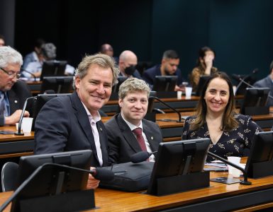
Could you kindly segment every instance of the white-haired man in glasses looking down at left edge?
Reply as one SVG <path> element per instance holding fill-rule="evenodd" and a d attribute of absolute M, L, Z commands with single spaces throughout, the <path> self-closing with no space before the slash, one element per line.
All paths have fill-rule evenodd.
<path fill-rule="evenodd" d="M 19 52 L 11 47 L 0 47 L 0 126 L 15 125 L 26 99 L 32 96 L 26 83 L 18 80 L 22 64 Z M 29 112 L 25 111 L 23 116 L 29 117 Z"/>

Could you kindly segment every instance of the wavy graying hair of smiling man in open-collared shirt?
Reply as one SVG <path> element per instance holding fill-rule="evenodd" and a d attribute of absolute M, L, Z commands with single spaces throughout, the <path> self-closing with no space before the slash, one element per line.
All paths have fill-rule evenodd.
<path fill-rule="evenodd" d="M 108 69 L 110 68 L 113 73 L 113 85 L 118 83 L 118 74 L 119 69 L 116 66 L 116 62 L 106 54 L 93 54 L 85 56 L 82 61 L 79 63 L 78 68 L 76 69 L 75 77 L 84 78 L 87 75 L 87 70 L 93 64 L 100 66 L 101 68 Z"/>

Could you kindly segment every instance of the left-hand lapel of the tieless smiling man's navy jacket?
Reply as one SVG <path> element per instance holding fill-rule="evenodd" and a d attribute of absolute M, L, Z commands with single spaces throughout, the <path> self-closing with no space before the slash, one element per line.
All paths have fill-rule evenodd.
<path fill-rule="evenodd" d="M 72 107 L 74 108 L 74 114 L 78 119 L 79 125 L 82 127 L 82 131 L 84 131 L 84 134 L 91 145 L 92 151 L 94 152 L 94 157 L 96 158 L 97 161 L 99 161 L 98 155 L 96 154 L 94 136 L 87 116 L 87 112 L 84 109 L 81 100 L 79 100 L 79 97 L 76 92 L 70 95 L 70 98 L 72 102 Z"/>

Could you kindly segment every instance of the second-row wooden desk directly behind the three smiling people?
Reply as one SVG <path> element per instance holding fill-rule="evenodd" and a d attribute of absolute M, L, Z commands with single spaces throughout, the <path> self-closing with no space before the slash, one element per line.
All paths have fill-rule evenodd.
<path fill-rule="evenodd" d="M 273 109 L 272 109 L 273 110 Z M 181 112 L 186 118 L 194 112 Z M 101 117 L 102 122 L 107 122 L 111 117 Z M 163 141 L 181 140 L 184 127 L 184 119 L 177 122 L 177 113 L 156 114 L 157 124 L 162 130 Z M 252 119 L 259 124 L 264 131 L 269 131 L 273 125 L 273 113 L 266 115 L 252 116 Z M 0 131 L 16 131 L 15 126 L 1 126 Z M 13 158 L 23 155 L 31 155 L 34 148 L 34 132 L 26 133 L 23 136 L 14 134 L 0 134 L 0 158 Z"/>

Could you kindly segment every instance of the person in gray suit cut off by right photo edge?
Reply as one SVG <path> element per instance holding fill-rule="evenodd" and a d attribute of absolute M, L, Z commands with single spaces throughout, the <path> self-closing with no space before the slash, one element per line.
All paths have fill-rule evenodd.
<path fill-rule="evenodd" d="M 269 67 L 269 75 L 254 83 L 253 86 L 257 88 L 270 88 L 267 106 L 273 106 L 273 61 Z"/>

